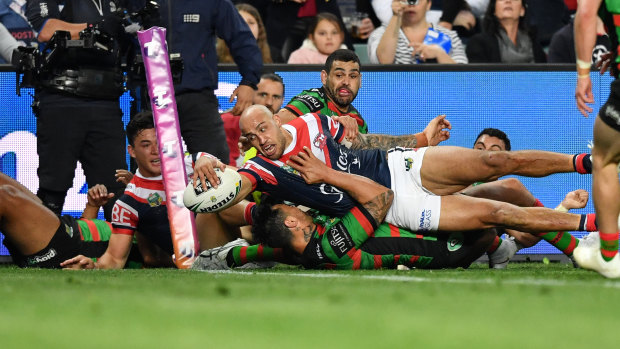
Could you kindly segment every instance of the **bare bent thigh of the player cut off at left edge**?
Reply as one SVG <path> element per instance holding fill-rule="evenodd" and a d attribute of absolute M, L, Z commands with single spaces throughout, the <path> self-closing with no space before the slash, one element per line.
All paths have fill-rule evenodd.
<path fill-rule="evenodd" d="M 49 244 L 60 219 L 17 181 L 2 174 L 0 183 L 0 231 L 20 253 L 39 252 Z"/>

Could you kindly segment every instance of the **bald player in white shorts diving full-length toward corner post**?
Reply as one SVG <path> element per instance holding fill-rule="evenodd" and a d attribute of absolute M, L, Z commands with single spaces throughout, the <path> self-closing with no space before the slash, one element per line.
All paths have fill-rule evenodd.
<path fill-rule="evenodd" d="M 507 174 L 544 176 L 584 170 L 587 156 L 543 151 L 481 152 L 459 147 L 393 148 L 414 145 L 413 136 L 358 135 L 352 150 L 342 147 L 340 124 L 320 114 L 306 114 L 286 125 L 262 106 L 241 116 L 244 135 L 261 155 L 239 170 L 236 201 L 259 189 L 284 200 L 342 216 L 353 206 L 349 195 L 325 183 L 307 185 L 287 163 L 302 147 L 337 170 L 359 174 L 392 188 L 395 199 L 386 221 L 411 231 L 461 231 L 509 226 L 529 232 L 596 230 L 594 215 L 570 215 L 543 208 L 518 208 L 493 200 L 449 195 L 477 181 Z M 441 129 L 441 126 L 438 127 Z M 426 161 L 423 161 L 426 160 Z M 577 160 L 576 164 L 574 163 Z M 280 185 L 280 184 L 283 185 Z M 588 219 L 588 217 L 590 219 Z"/>

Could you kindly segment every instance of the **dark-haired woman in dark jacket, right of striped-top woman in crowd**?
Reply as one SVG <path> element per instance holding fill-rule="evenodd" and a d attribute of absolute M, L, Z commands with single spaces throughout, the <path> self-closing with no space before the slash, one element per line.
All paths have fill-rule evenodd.
<path fill-rule="evenodd" d="M 482 33 L 467 43 L 469 62 L 545 63 L 545 52 L 526 23 L 526 0 L 491 0 Z"/>

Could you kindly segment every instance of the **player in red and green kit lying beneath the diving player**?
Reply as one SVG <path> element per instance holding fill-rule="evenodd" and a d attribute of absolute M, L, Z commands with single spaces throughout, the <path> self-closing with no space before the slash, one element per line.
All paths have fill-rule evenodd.
<path fill-rule="evenodd" d="M 239 246 L 239 240 L 233 241 L 203 251 L 192 268 L 224 269 L 268 256 L 313 269 L 468 267 L 493 240 L 490 230 L 422 236 L 380 224 L 392 191 L 365 177 L 342 175 L 346 177 L 339 176 L 340 187 L 360 203 L 344 217 L 312 217 L 297 207 L 274 205 L 273 199 L 263 196 L 254 214 L 253 234 L 264 245 Z"/>

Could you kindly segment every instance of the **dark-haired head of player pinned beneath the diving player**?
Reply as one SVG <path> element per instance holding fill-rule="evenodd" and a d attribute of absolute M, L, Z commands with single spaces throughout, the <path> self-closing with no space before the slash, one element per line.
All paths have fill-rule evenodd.
<path fill-rule="evenodd" d="M 297 247 L 303 249 L 308 243 L 309 234 L 314 231 L 310 215 L 270 196 L 263 196 L 254 216 L 254 240 L 271 247 L 294 248 L 294 245 L 301 243 L 302 246 Z"/>

